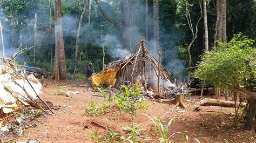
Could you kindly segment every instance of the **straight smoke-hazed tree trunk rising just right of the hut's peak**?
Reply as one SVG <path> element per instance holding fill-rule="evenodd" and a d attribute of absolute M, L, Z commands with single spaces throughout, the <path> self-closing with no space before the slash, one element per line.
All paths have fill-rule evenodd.
<path fill-rule="evenodd" d="M 154 52 L 160 51 L 159 46 L 159 3 L 153 1 L 153 18 L 154 18 Z"/>

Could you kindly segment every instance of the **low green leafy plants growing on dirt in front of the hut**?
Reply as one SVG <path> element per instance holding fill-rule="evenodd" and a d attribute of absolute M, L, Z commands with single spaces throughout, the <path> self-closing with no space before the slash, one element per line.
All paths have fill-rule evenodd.
<path fill-rule="evenodd" d="M 114 96 L 108 96 L 110 90 L 105 91 L 104 88 L 96 88 L 103 96 L 103 103 L 91 103 L 86 106 L 84 114 L 97 116 L 110 112 L 112 106 L 118 107 L 120 113 L 127 111 L 130 114 L 136 114 L 138 109 L 147 109 L 149 107 L 141 100 L 142 94 L 138 85 L 134 84 L 133 87 L 122 86 Z M 108 97 L 108 98 L 107 98 Z"/>

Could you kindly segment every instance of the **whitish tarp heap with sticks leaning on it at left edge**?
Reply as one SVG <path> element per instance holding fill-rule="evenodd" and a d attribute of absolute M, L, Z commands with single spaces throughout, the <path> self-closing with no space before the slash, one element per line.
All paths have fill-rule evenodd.
<path fill-rule="evenodd" d="M 40 106 L 43 103 L 52 112 L 48 104 L 39 97 L 42 84 L 33 74 L 26 74 L 25 66 L 19 72 L 15 64 L 15 57 L 22 52 L 17 51 L 11 58 L 0 57 L 0 109 L 2 113 L 10 113 L 18 109 L 19 105 L 33 106 L 45 109 Z M 53 112 L 52 112 L 53 113 Z M 54 113 L 53 113 L 54 114 Z"/>

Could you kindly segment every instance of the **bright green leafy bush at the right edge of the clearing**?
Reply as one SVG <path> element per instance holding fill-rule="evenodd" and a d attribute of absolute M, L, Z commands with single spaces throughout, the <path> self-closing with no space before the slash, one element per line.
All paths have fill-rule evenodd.
<path fill-rule="evenodd" d="M 193 76 L 227 90 L 238 85 L 247 86 L 250 74 L 256 74 L 253 42 L 241 33 L 234 35 L 228 43 L 218 42 L 215 50 L 202 57 Z"/>

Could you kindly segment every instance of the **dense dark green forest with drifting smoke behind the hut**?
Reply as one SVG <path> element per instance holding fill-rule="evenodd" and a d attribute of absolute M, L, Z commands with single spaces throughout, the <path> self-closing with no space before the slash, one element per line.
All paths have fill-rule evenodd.
<path fill-rule="evenodd" d="M 96 3 L 97 2 L 97 3 Z M 206 45 L 214 48 L 218 1 L 206 1 L 207 44 L 205 42 L 204 1 L 62 1 L 61 19 L 68 77 L 85 73 L 89 62 L 102 70 L 104 45 L 105 64 L 122 58 L 140 39 L 155 57 L 163 52 L 162 64 L 183 80 L 188 70 L 190 46 L 191 64 L 196 66 Z M 158 29 L 154 6 L 159 9 Z M 60 5 L 59 5 L 60 6 Z M 53 1 L 2 1 L 1 22 L 5 56 L 11 57 L 21 48 L 31 47 L 19 56 L 18 62 L 41 67 L 52 74 L 55 57 L 55 9 Z M 102 11 L 100 11 L 100 9 Z M 104 14 L 104 15 L 103 15 Z M 255 39 L 256 6 L 251 1 L 226 1 L 226 39 L 241 32 Z M 201 17 L 201 18 L 200 18 Z M 187 21 L 189 18 L 189 21 Z M 192 28 L 192 29 L 191 29 Z M 196 30 L 197 29 L 197 30 Z M 192 30 L 192 31 L 191 31 Z M 159 37 L 156 40 L 156 33 Z M 159 40 L 159 47 L 154 43 Z M 1 52 L 3 48 L 1 48 Z"/>

